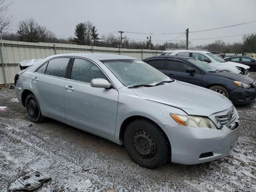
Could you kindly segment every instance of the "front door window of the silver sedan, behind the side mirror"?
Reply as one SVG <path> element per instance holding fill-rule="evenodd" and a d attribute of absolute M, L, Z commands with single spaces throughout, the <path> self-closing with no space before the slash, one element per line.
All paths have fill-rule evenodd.
<path fill-rule="evenodd" d="M 103 78 L 107 80 L 104 73 L 93 62 L 86 59 L 75 58 L 71 79 L 90 83 L 91 80 L 95 78 Z"/>

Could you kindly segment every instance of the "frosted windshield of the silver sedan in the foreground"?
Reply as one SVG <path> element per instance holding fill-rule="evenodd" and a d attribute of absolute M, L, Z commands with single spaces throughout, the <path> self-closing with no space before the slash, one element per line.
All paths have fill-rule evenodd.
<path fill-rule="evenodd" d="M 154 85 L 170 78 L 154 67 L 140 60 L 101 60 L 126 87 Z"/>

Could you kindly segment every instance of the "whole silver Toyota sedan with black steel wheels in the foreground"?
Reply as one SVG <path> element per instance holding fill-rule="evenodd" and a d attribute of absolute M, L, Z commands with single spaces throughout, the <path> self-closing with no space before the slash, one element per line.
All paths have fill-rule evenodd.
<path fill-rule="evenodd" d="M 19 72 L 15 91 L 33 122 L 48 117 L 124 144 L 147 168 L 222 158 L 240 133 L 226 97 L 128 56 L 50 56 Z"/>

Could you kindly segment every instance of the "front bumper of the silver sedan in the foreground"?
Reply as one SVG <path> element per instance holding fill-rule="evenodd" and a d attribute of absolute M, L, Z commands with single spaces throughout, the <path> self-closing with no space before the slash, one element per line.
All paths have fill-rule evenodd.
<path fill-rule="evenodd" d="M 230 130 L 224 126 L 221 130 L 208 128 L 190 128 L 182 125 L 174 127 L 159 124 L 166 132 L 171 145 L 172 162 L 179 164 L 200 164 L 228 156 L 236 146 L 240 126 Z M 212 156 L 199 158 L 212 152 Z"/>

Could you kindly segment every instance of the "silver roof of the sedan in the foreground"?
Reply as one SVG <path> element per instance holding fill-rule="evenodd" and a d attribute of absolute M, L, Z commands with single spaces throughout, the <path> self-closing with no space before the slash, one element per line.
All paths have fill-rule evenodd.
<path fill-rule="evenodd" d="M 104 53 L 70 53 L 70 54 L 58 54 L 50 56 L 54 57 L 61 57 L 61 56 L 69 56 L 69 57 L 93 57 L 98 60 L 114 60 L 114 59 L 136 59 L 129 56 L 124 55 L 116 55 L 116 54 L 104 54 Z M 137 60 L 137 59 L 136 59 Z"/>

